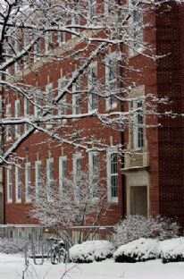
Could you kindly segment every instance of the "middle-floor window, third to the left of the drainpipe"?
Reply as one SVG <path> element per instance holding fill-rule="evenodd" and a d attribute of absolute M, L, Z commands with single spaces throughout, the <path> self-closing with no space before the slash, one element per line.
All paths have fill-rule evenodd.
<path fill-rule="evenodd" d="M 72 92 L 74 93 L 72 95 L 72 114 L 81 114 L 81 94 L 77 93 L 80 91 L 80 82 L 79 79 L 76 80 L 75 84 L 72 86 Z"/>

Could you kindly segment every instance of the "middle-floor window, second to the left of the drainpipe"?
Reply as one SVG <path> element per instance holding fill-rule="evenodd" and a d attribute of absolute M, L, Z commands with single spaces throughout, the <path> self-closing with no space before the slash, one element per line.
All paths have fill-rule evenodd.
<path fill-rule="evenodd" d="M 88 110 L 97 110 L 97 63 L 92 63 L 88 72 Z"/>

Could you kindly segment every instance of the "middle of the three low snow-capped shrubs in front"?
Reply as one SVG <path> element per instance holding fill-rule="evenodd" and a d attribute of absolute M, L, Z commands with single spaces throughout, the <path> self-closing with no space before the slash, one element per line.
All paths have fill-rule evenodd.
<path fill-rule="evenodd" d="M 148 259 L 158 258 L 159 241 L 152 239 L 139 239 L 130 243 L 121 245 L 113 254 L 115 262 L 135 263 L 146 261 Z"/>

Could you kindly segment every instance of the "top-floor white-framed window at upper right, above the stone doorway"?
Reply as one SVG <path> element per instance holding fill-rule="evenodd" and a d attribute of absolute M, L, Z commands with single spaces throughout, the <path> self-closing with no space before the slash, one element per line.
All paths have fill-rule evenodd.
<path fill-rule="evenodd" d="M 142 11 L 138 10 L 138 7 L 136 6 L 136 9 L 132 11 L 132 7 L 134 6 L 134 3 L 137 3 L 138 0 L 129 0 L 129 13 L 130 13 L 130 20 L 129 20 L 129 30 L 132 33 L 132 44 L 129 47 L 129 55 L 135 56 L 138 55 L 138 53 L 141 53 L 143 51 L 143 45 L 144 42 L 144 29 L 143 29 L 143 13 Z M 138 21 L 135 20 L 135 17 L 138 16 Z M 141 25 L 141 26 L 139 26 Z M 135 28 L 138 26 L 138 30 Z M 136 37 L 138 36 L 139 44 L 137 44 Z"/>

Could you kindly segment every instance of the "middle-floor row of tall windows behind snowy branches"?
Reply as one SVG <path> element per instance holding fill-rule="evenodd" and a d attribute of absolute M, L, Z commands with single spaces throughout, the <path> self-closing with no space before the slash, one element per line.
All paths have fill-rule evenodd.
<path fill-rule="evenodd" d="M 108 85 L 108 91 L 106 91 L 107 97 L 105 98 L 105 106 L 106 110 L 114 109 L 117 106 L 117 98 L 115 97 L 116 94 L 116 83 L 117 83 L 117 63 L 116 63 L 116 54 L 112 54 L 109 56 L 107 65 L 106 65 L 106 84 Z M 59 79 L 58 80 L 58 94 L 60 94 L 61 90 L 66 86 L 68 80 L 66 79 Z M 81 93 L 78 93 L 81 85 L 79 84 L 79 80 L 75 82 L 72 86 L 72 114 L 81 114 L 82 112 L 82 100 L 81 100 Z M 92 63 L 89 67 L 88 72 L 88 112 L 97 110 L 98 109 L 98 82 L 97 82 L 97 62 Z M 40 92 L 35 97 L 35 106 L 34 106 L 34 115 L 38 116 L 39 114 L 39 108 L 38 106 L 43 106 L 46 104 L 46 107 L 49 108 L 52 107 L 52 98 L 53 98 L 53 85 L 52 83 L 46 85 L 46 93 L 43 94 Z M 43 96 L 45 104 L 40 104 L 40 96 Z M 28 98 L 25 98 L 24 100 L 24 116 L 27 117 L 30 114 L 30 102 Z M 12 115 L 12 104 L 6 105 L 6 117 L 11 118 Z M 45 107 L 45 108 L 46 108 Z M 62 98 L 62 100 L 59 103 L 59 111 L 60 114 L 67 114 L 67 108 L 69 105 L 66 102 L 66 96 Z M 21 103 L 20 100 L 15 100 L 14 103 L 14 116 L 16 118 L 21 117 L 22 109 L 21 109 Z M 46 128 L 49 128 L 49 124 L 47 124 Z M 29 123 L 25 124 L 25 130 L 27 131 L 29 129 Z M 21 134 L 21 125 L 17 124 L 15 125 L 15 138 L 18 138 Z M 12 138 L 12 127 L 7 126 L 6 127 L 6 137 L 7 139 Z"/>

